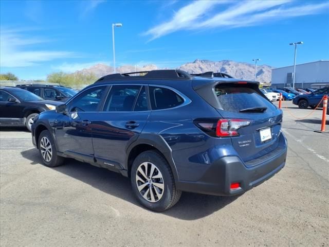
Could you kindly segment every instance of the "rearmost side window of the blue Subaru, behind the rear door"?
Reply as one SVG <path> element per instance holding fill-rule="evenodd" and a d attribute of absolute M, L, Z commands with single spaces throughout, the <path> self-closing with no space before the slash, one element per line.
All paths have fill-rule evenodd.
<path fill-rule="evenodd" d="M 149 91 L 152 110 L 174 108 L 184 103 L 184 99 L 165 87 L 149 86 Z"/>

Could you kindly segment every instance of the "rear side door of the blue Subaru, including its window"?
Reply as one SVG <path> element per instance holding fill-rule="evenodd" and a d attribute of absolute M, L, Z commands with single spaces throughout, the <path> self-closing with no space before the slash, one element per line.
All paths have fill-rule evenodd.
<path fill-rule="evenodd" d="M 150 115 L 146 86 L 113 85 L 102 112 L 93 118 L 93 146 L 100 165 L 121 168 L 127 145 L 143 130 Z"/>

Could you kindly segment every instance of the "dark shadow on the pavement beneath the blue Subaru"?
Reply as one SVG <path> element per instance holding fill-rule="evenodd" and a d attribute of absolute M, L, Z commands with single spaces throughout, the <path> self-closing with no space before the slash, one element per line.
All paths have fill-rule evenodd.
<path fill-rule="evenodd" d="M 31 165 L 42 164 L 42 159 L 37 149 L 21 152 L 22 156 L 31 161 Z M 143 208 L 133 195 L 129 178 L 120 173 L 112 172 L 87 163 L 68 158 L 63 166 L 49 168 L 61 172 L 69 177 L 80 180 L 109 195 L 118 197 L 127 202 Z M 182 220 L 196 220 L 211 215 L 217 210 L 237 199 L 235 197 L 217 197 L 183 192 L 179 202 L 161 214 Z M 147 209 L 145 209 L 147 210 Z"/>

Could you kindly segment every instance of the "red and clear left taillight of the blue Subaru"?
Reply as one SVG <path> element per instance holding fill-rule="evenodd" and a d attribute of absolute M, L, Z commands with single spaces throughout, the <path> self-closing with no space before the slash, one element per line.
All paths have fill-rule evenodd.
<path fill-rule="evenodd" d="M 204 132 L 214 137 L 238 136 L 242 127 L 250 125 L 251 120 L 247 119 L 196 119 L 195 124 Z"/>

